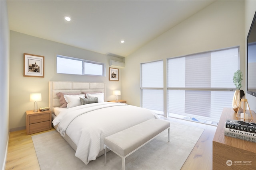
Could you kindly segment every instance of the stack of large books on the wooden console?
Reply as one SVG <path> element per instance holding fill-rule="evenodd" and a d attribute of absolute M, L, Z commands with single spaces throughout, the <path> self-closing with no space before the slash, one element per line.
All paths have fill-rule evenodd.
<path fill-rule="evenodd" d="M 226 119 L 225 135 L 256 143 L 256 123 Z"/>

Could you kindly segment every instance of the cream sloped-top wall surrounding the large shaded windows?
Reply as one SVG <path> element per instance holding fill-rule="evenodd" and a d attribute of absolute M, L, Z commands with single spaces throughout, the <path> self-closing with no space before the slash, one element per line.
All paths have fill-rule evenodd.
<path fill-rule="evenodd" d="M 216 1 L 126 57 L 123 99 L 140 106 L 140 63 L 149 61 L 163 59 L 166 72 L 167 58 L 240 46 L 240 69 L 245 73 L 244 41 L 244 1 Z"/>

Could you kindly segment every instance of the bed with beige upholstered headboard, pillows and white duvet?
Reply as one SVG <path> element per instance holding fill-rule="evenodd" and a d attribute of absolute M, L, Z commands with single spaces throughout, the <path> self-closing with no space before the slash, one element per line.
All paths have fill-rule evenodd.
<path fill-rule="evenodd" d="M 60 94 L 65 97 L 66 107 Z M 78 105 L 78 98 L 82 105 Z M 89 100 L 93 102 L 87 103 Z M 105 137 L 148 119 L 159 119 L 142 107 L 106 102 L 106 83 L 101 82 L 50 81 L 49 107 L 54 128 L 84 164 L 104 154 Z"/>

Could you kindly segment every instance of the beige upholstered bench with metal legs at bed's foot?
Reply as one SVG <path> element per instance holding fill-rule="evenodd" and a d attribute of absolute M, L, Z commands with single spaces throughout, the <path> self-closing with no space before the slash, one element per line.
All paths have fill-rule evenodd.
<path fill-rule="evenodd" d="M 169 142 L 170 122 L 160 119 L 149 119 L 104 138 L 104 164 L 106 165 L 106 152 L 108 148 L 122 158 L 122 170 L 125 170 L 125 158 L 146 145 L 146 143 L 166 129 L 168 129 Z"/>

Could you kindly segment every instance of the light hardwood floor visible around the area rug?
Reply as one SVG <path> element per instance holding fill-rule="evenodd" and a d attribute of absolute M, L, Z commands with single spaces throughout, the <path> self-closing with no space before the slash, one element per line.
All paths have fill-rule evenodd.
<path fill-rule="evenodd" d="M 211 170 L 212 169 L 212 139 L 216 126 L 194 123 L 175 118 L 166 118 L 169 121 L 181 122 L 204 130 L 194 149 L 182 166 L 182 170 Z M 55 130 L 52 128 L 52 130 Z M 52 131 L 49 130 L 49 131 Z M 44 131 L 41 133 L 45 133 Z M 37 135 L 35 133 L 32 135 Z M 26 135 L 26 130 L 10 132 L 6 170 L 40 170 L 36 152 L 31 136 Z"/>

